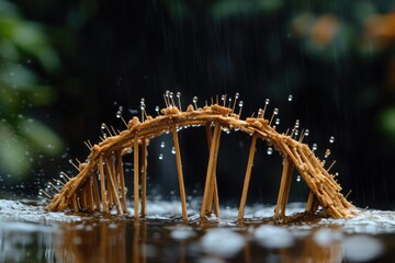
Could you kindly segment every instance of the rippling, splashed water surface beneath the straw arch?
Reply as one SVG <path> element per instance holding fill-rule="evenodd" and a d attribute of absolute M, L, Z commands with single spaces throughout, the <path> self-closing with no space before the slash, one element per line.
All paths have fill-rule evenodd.
<path fill-rule="evenodd" d="M 273 221 L 274 207 L 223 207 L 201 220 L 178 202 L 150 202 L 148 216 L 48 213 L 37 201 L 0 199 L 0 262 L 392 262 L 395 213 L 360 210 L 352 219 L 319 215 Z M 133 209 L 129 209 L 131 211 Z M 287 215 L 303 210 L 291 204 Z M 266 218 L 266 219 L 264 219 Z M 290 219 L 290 218 L 289 218 Z"/>

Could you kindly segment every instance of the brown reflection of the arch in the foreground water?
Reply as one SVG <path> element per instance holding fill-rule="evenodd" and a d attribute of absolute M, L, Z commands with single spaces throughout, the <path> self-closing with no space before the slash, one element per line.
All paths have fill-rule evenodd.
<path fill-rule="evenodd" d="M 172 238 L 171 233 L 180 231 L 180 228 L 185 227 L 170 222 L 161 226 L 157 220 L 140 220 L 139 224 L 70 224 L 63 227 L 61 235 L 57 235 L 60 242 L 54 249 L 61 262 L 189 262 L 196 258 L 235 262 L 270 259 L 278 259 L 280 262 L 340 262 L 342 259 L 341 240 L 319 245 L 314 239 L 316 230 L 306 233 L 287 231 L 293 242 L 272 247 L 270 243 L 261 243 L 257 238 L 251 239 L 255 227 L 241 230 L 203 230 L 204 227 L 199 227 L 188 230 L 196 232 L 196 236 Z"/>

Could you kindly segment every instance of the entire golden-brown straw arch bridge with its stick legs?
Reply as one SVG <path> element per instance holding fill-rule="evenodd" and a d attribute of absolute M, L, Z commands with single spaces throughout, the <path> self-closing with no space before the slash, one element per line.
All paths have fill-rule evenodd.
<path fill-rule="evenodd" d="M 170 103 L 161 110 L 160 115 L 153 118 L 143 115 L 140 122 L 137 117 L 131 119 L 127 129 L 103 139 L 91 146 L 87 161 L 78 167 L 78 174 L 68 178 L 61 190 L 55 194 L 47 205 L 48 210 L 65 210 L 70 208 L 79 210 L 109 213 L 115 207 L 117 214 L 127 213 L 126 190 L 122 157 L 133 153 L 134 161 L 134 216 L 138 218 L 146 215 L 146 175 L 149 140 L 163 133 L 171 133 L 173 137 L 177 171 L 180 187 L 182 217 L 188 220 L 187 199 L 183 184 L 181 152 L 178 130 L 185 127 L 204 126 L 210 146 L 207 172 L 204 195 L 201 207 L 201 217 L 214 213 L 219 216 L 219 204 L 216 185 L 217 155 L 223 129 L 240 130 L 251 135 L 251 146 L 248 164 L 245 173 L 242 194 L 240 197 L 238 219 L 244 217 L 252 162 L 255 158 L 257 139 L 266 140 L 276 148 L 284 158 L 281 183 L 278 194 L 274 216 L 285 215 L 285 207 L 291 187 L 292 172 L 296 169 L 311 190 L 306 210 L 315 211 L 321 206 L 326 214 L 334 218 L 351 217 L 356 208 L 340 193 L 341 186 L 324 168 L 324 163 L 314 155 L 303 138 L 294 139 L 293 132 L 287 135 L 280 134 L 259 114 L 258 117 L 240 119 L 240 113 L 234 108 L 212 104 L 198 108 L 189 105 L 185 112 Z M 110 130 L 109 130 L 110 132 Z M 140 180 L 140 184 L 139 184 Z M 142 209 L 139 210 L 139 185 L 142 186 Z"/>

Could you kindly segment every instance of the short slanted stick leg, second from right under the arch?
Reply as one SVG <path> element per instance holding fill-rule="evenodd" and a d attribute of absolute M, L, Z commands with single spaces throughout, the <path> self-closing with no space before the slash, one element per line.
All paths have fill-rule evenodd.
<path fill-rule="evenodd" d="M 281 175 L 281 184 L 279 191 L 278 203 L 274 210 L 274 216 L 284 216 L 285 215 L 285 206 L 287 203 L 287 198 L 290 195 L 291 188 L 291 180 L 294 164 L 290 161 L 287 157 L 285 157 L 283 172 Z"/>

